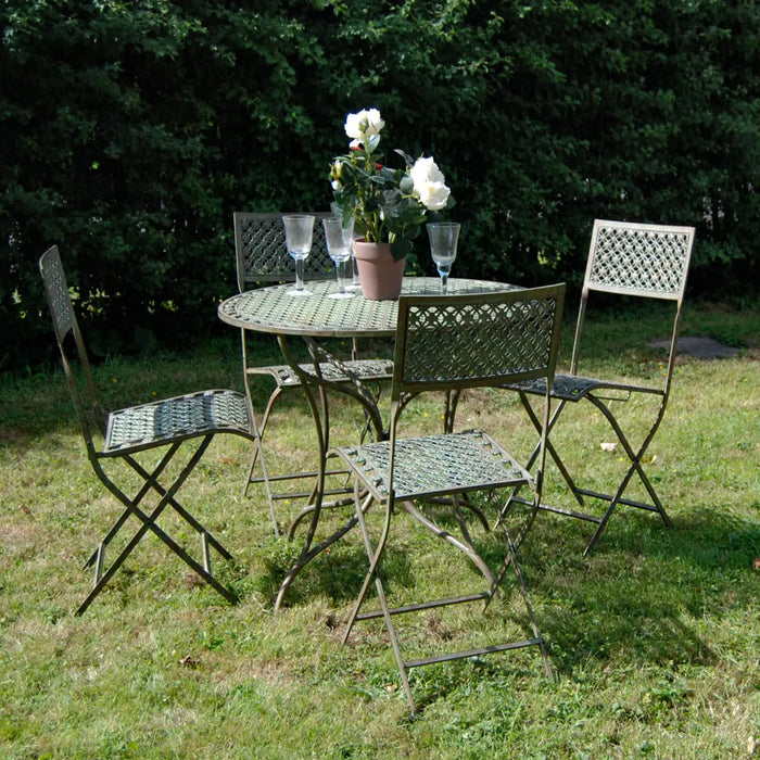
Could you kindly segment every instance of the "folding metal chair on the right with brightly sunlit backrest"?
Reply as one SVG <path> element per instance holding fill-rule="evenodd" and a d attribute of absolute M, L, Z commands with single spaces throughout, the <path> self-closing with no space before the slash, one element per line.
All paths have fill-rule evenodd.
<path fill-rule="evenodd" d="M 581 507 L 584 497 L 600 499 L 608 504 L 604 515 L 565 509 L 542 504 L 541 508 L 567 517 L 596 523 L 597 528 L 588 542 L 584 555 L 587 555 L 599 540 L 610 517 L 619 505 L 636 507 L 655 511 L 660 515 L 666 525 L 671 525 L 670 518 L 660 502 L 651 481 L 644 471 L 644 455 L 649 447 L 655 433 L 664 416 L 670 396 L 673 366 L 677 349 L 679 326 L 683 307 L 683 295 L 686 287 L 686 274 L 694 243 L 693 227 L 670 227 L 661 225 L 643 225 L 623 221 L 594 221 L 591 239 L 588 262 L 581 305 L 575 327 L 575 339 L 568 375 L 558 373 L 552 384 L 552 397 L 559 403 L 555 406 L 549 420 L 549 436 L 547 451 L 556 464 L 562 479 L 570 487 Z M 642 296 L 674 302 L 675 314 L 670 340 L 670 356 L 662 385 L 639 384 L 634 382 L 613 382 L 603 378 L 592 378 L 579 375 L 578 367 L 581 356 L 581 337 L 586 316 L 586 305 L 590 292 L 608 293 L 613 295 Z M 533 380 L 511 384 L 518 391 L 523 406 L 533 423 L 540 427 L 542 422 L 532 413 L 529 395 L 543 395 L 546 383 Z M 628 402 L 636 394 L 649 394 L 659 398 L 651 426 L 644 435 L 642 443 L 635 447 L 630 441 L 611 408 L 611 402 Z M 628 469 L 613 493 L 601 493 L 575 484 L 567 466 L 557 452 L 552 430 L 557 423 L 568 403 L 575 404 L 586 400 L 591 402 L 607 419 L 615 431 L 623 452 L 629 460 Z M 539 455 L 536 449 L 534 457 Z M 532 466 L 533 459 L 529 463 Z M 650 502 L 642 502 L 624 496 L 633 476 L 637 476 Z M 517 493 L 515 502 L 521 502 Z"/>

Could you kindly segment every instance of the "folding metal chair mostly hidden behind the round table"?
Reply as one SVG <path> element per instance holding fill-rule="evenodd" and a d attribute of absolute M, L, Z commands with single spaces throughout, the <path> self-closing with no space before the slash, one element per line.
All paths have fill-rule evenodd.
<path fill-rule="evenodd" d="M 314 225 L 314 243 L 312 252 L 306 259 L 304 271 L 304 280 L 327 279 L 334 277 L 334 265 L 330 259 L 325 241 L 325 228 L 321 219 L 329 217 L 329 212 L 309 212 L 316 219 Z M 242 293 L 245 290 L 259 283 L 277 283 L 290 282 L 295 278 L 295 268 L 292 257 L 288 254 L 284 240 L 284 227 L 282 225 L 282 214 L 252 214 L 244 212 L 235 212 L 235 248 L 237 255 L 238 269 L 238 288 Z M 279 472 L 273 474 L 268 471 L 267 463 L 264 456 L 264 433 L 269 422 L 271 408 L 280 396 L 282 391 L 288 388 L 300 388 L 302 382 L 297 373 L 287 364 L 259 366 L 253 364 L 250 357 L 248 339 L 245 330 L 240 331 L 242 343 L 243 358 L 243 375 L 245 380 L 245 389 L 249 398 L 252 400 L 251 381 L 256 376 L 268 376 L 275 381 L 275 388 L 269 395 L 269 398 L 261 415 L 261 420 L 255 419 L 254 425 L 256 430 L 256 445 L 251 458 L 251 467 L 249 469 L 244 494 L 251 483 L 264 483 L 267 496 L 267 505 L 269 508 L 269 517 L 271 519 L 275 535 L 279 535 L 279 525 L 277 522 L 277 514 L 275 502 L 282 499 L 311 499 L 313 492 L 307 491 L 277 491 L 275 484 L 280 484 L 287 481 L 296 480 L 313 480 L 316 478 L 316 471 L 307 472 Z M 379 380 L 390 380 L 393 371 L 393 362 L 391 359 L 358 359 L 357 346 L 354 341 L 351 352 L 351 359 L 343 363 L 347 371 L 354 373 L 363 382 L 375 382 Z M 306 372 L 314 372 L 312 364 L 303 364 L 301 368 Z M 320 363 L 319 372 L 324 378 L 332 382 L 349 382 L 349 377 L 338 367 L 330 363 Z M 254 476 L 256 464 L 258 464 L 261 476 Z M 340 474 L 335 471 L 327 474 Z M 335 495 L 345 493 L 344 489 L 330 489 L 327 495 Z M 304 514 L 300 515 L 291 525 L 292 531 Z"/>

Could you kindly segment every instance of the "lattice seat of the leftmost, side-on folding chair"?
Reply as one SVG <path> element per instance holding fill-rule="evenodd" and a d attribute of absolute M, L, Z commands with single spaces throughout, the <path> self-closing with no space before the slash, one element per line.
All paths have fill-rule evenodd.
<path fill-rule="evenodd" d="M 250 436 L 251 430 L 248 400 L 242 393 L 202 391 L 111 413 L 103 454 L 124 454 L 219 431 Z"/>

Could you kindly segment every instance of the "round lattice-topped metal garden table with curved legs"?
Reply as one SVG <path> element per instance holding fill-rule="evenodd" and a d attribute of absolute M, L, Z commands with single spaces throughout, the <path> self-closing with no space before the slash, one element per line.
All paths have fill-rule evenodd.
<path fill-rule="evenodd" d="M 485 280 L 449 279 L 452 294 L 483 293 L 510 290 L 516 286 Z M 358 378 L 352 376 L 339 359 L 329 354 L 317 342 L 320 338 L 390 338 L 395 334 L 398 312 L 397 301 L 369 301 L 357 293 L 353 299 L 329 299 L 337 291 L 334 280 L 316 280 L 307 283 L 311 297 L 289 295 L 293 284 L 279 284 L 269 288 L 245 291 L 233 295 L 218 307 L 221 321 L 245 330 L 269 333 L 277 342 L 286 362 L 293 368 L 303 383 L 303 391 L 314 418 L 318 469 L 317 480 L 311 498 L 312 521 L 304 541 L 301 556 L 282 582 L 275 609 L 279 608 L 288 587 L 297 573 L 325 548 L 345 535 L 357 522 L 356 517 L 313 546 L 319 522 L 325 491 L 326 455 L 329 451 L 329 411 L 327 391 L 333 390 L 355 398 L 364 408 L 371 432 L 377 440 L 387 438 L 377 398 Z M 441 282 L 438 277 L 406 277 L 403 294 L 438 294 Z M 304 371 L 293 355 L 289 338 L 303 339 L 309 350 L 314 371 Z M 317 369 L 320 362 L 329 362 L 346 375 L 351 382 L 333 382 L 322 377 Z M 303 364 L 303 362 L 301 362 Z M 317 401 L 317 397 L 319 401 Z"/>

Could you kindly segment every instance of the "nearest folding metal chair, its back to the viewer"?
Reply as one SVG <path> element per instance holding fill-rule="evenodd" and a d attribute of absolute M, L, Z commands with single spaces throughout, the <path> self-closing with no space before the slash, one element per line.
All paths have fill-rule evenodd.
<path fill-rule="evenodd" d="M 402 438 L 398 427 L 403 409 L 419 393 L 501 387 L 509 381 L 539 378 L 550 383 L 559 345 L 563 297 L 563 284 L 490 294 L 402 296 L 398 301 L 390 440 L 338 447 L 331 452 L 349 466 L 354 476 L 356 520 L 369 561 L 369 570 L 351 612 L 343 641 L 347 641 L 357 620 L 384 620 L 413 713 L 416 706 L 407 676 L 411 668 L 537 646 L 546 673 L 552 675 L 544 639 L 515 557 L 515 543 L 506 523 L 501 520 L 504 502 L 499 499 L 501 490 L 518 484 L 533 491 L 533 510 L 521 530 L 521 541 L 541 501 L 541 469 L 546 442 L 543 431 L 548 427 L 548 393 L 545 394 L 542 417 L 544 426 L 539 434 L 537 469 L 533 474 L 482 430 Z M 504 558 L 495 570 L 477 550 L 463 519 L 461 507 L 472 506 L 469 495 L 474 492 L 483 492 L 486 501 L 495 507 L 499 518 L 496 525 L 499 533 L 504 532 Z M 429 509 L 422 511 L 425 508 L 418 506 L 419 502 L 434 501 L 435 509 L 440 509 L 441 497 L 446 497 L 451 505 L 451 514 L 456 517 L 460 528 L 460 537 L 436 523 Z M 372 543 L 365 514 L 375 503 L 384 505 L 384 521 L 377 542 Z M 459 549 L 480 571 L 485 583 L 481 582 L 479 588 L 471 593 L 468 590 L 468 593 L 458 596 L 391 607 L 381 580 L 381 565 L 392 543 L 395 512 L 400 509 Z M 482 601 L 486 608 L 510 565 L 524 599 L 532 636 L 419 659 L 404 657 L 394 616 L 472 601 Z M 372 582 L 379 609 L 363 612 L 360 610 Z"/>

